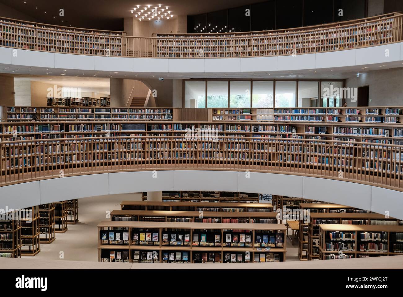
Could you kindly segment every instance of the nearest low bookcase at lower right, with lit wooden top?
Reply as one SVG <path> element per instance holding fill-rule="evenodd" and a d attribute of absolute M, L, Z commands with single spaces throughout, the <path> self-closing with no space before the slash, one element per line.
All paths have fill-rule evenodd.
<path fill-rule="evenodd" d="M 319 259 L 403 255 L 403 226 L 319 225 Z"/>

